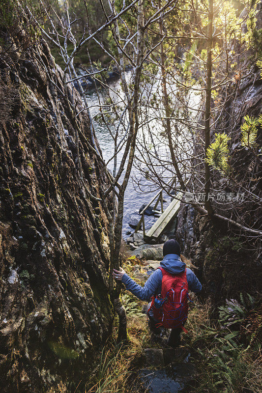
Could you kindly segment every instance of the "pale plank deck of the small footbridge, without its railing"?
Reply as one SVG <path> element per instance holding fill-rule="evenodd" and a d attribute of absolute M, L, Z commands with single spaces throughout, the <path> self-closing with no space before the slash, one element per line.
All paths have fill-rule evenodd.
<path fill-rule="evenodd" d="M 176 197 L 181 198 L 182 192 L 179 192 Z M 180 206 L 180 200 L 174 198 L 169 206 L 166 208 L 164 213 L 159 217 L 159 219 L 151 226 L 147 231 L 146 237 L 151 237 L 157 239 L 161 233 L 164 231 L 165 227 L 170 223 L 170 221 L 175 217 Z"/>

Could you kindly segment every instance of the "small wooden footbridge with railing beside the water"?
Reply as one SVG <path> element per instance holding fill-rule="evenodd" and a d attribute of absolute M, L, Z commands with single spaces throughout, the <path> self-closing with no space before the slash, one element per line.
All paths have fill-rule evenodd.
<path fill-rule="evenodd" d="M 166 210 L 163 210 L 163 191 L 159 191 L 146 205 L 146 207 L 142 210 L 141 214 L 141 219 L 135 229 L 135 232 L 143 233 L 144 238 L 146 239 L 151 239 L 151 240 L 157 240 L 161 234 L 164 232 L 165 228 L 167 225 L 171 222 L 172 219 L 175 218 L 175 216 L 178 213 L 178 209 L 180 207 L 180 200 L 182 197 L 183 193 L 180 191 L 172 200 L 172 202 L 169 204 L 169 206 L 166 208 Z M 152 212 L 156 215 L 159 215 L 158 220 L 151 226 L 151 228 L 146 232 L 145 228 L 145 211 L 146 209 L 154 202 L 154 200 L 157 198 L 156 203 L 153 207 Z M 161 203 L 161 211 L 156 210 L 158 203 Z M 143 231 L 140 231 L 140 227 L 142 225 Z"/>

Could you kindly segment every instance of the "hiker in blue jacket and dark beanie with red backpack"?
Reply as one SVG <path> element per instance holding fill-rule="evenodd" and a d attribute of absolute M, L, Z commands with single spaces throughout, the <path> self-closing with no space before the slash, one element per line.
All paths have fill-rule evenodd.
<path fill-rule="evenodd" d="M 163 257 L 161 268 L 151 274 L 144 286 L 132 280 L 122 268 L 120 271 L 114 269 L 113 276 L 140 300 L 149 301 L 152 298 L 147 306 L 150 330 L 158 336 L 161 335 L 161 327 L 171 328 L 167 345 L 176 348 L 181 342 L 181 331 L 185 331 L 188 289 L 199 293 L 202 285 L 181 261 L 180 246 L 175 239 L 164 244 Z"/>

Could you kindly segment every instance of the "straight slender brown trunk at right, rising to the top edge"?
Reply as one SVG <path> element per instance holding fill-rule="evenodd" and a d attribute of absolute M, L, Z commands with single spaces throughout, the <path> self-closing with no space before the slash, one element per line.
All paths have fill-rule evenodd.
<path fill-rule="evenodd" d="M 213 0 L 208 0 L 208 27 L 207 27 L 207 60 L 206 60 L 206 86 L 205 86 L 205 112 L 204 112 L 204 155 L 210 145 L 210 104 L 211 104 L 211 78 L 212 78 L 212 46 L 213 46 Z M 207 162 L 204 163 L 204 206 L 208 214 L 213 214 L 213 209 L 209 199 L 210 192 L 210 167 Z"/>

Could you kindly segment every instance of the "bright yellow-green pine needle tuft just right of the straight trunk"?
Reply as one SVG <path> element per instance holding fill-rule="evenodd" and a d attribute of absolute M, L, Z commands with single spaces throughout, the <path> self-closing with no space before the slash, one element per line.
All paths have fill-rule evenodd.
<path fill-rule="evenodd" d="M 205 161 L 207 164 L 223 173 L 229 169 L 229 140 L 230 138 L 225 133 L 215 134 L 215 141 L 206 150 Z"/>

